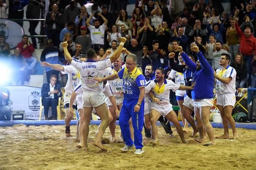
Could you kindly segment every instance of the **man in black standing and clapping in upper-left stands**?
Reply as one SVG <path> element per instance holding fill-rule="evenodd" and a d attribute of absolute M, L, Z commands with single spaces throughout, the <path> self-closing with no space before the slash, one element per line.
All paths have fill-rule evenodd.
<path fill-rule="evenodd" d="M 47 36 L 51 39 L 53 46 L 58 47 L 60 41 L 60 31 L 64 26 L 63 15 L 58 12 L 59 7 L 53 4 L 52 11 L 46 15 L 45 23 L 47 24 Z"/>

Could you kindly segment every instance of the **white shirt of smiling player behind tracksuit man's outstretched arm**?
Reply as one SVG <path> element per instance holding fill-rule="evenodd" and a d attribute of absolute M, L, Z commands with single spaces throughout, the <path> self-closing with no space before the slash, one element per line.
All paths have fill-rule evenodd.
<path fill-rule="evenodd" d="M 125 65 L 121 65 L 121 68 L 119 69 L 119 71 L 122 68 L 125 68 Z M 115 73 L 116 73 L 116 71 L 113 67 L 106 68 L 104 71 L 105 76 L 109 76 L 109 75 L 112 75 Z M 117 79 L 109 80 L 108 83 L 111 87 L 112 93 L 115 96 L 115 98 L 124 98 L 123 93 L 121 93 L 121 92 L 123 92 L 122 79 L 119 79 L 119 77 L 118 77 Z"/>

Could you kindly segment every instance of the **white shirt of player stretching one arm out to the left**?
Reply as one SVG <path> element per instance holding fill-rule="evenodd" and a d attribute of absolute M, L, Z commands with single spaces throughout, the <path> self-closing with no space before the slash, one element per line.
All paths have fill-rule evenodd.
<path fill-rule="evenodd" d="M 80 82 L 80 74 L 72 65 L 63 65 L 63 68 L 64 71 L 61 71 L 61 74 L 68 74 L 68 81 L 65 86 L 65 91 L 71 94 L 75 86 Z"/>

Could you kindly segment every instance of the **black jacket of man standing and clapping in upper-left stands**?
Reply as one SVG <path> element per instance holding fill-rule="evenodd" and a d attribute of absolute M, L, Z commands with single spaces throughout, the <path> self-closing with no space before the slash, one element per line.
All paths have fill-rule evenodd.
<path fill-rule="evenodd" d="M 52 20 L 52 12 L 47 13 L 45 23 L 47 24 L 47 30 L 50 31 L 52 30 L 52 26 L 55 23 L 56 25 L 56 30 L 61 31 L 64 27 L 65 22 L 63 21 L 63 15 L 61 13 L 56 13 L 55 15 L 55 21 Z"/>

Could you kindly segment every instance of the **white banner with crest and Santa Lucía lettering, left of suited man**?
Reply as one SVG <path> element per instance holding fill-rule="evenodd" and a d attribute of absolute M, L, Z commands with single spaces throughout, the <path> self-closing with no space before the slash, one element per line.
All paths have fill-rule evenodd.
<path fill-rule="evenodd" d="M 24 110 L 24 119 L 39 119 L 41 88 L 31 86 L 6 86 L 10 91 L 9 106 Z"/>

